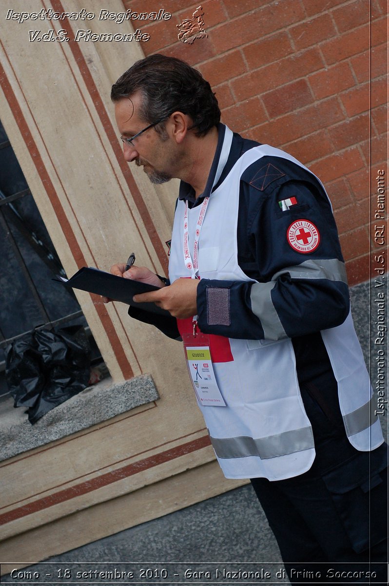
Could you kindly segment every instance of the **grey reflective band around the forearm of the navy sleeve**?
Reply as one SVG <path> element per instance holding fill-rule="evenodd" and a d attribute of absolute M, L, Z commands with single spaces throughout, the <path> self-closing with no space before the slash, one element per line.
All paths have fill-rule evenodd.
<path fill-rule="evenodd" d="M 250 292 L 250 301 L 253 314 L 261 321 L 266 340 L 280 340 L 287 338 L 283 325 L 278 317 L 276 308 L 271 301 L 270 291 L 276 282 L 253 283 Z"/>

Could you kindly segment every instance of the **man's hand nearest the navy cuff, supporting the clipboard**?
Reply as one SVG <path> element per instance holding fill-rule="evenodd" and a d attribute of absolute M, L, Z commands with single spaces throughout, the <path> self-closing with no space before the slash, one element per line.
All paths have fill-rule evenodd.
<path fill-rule="evenodd" d="M 174 318 L 191 318 L 197 315 L 198 284 L 198 279 L 177 279 L 173 285 L 168 285 L 160 291 L 135 295 L 133 300 L 136 303 L 152 301 L 159 307 L 167 309 Z"/>

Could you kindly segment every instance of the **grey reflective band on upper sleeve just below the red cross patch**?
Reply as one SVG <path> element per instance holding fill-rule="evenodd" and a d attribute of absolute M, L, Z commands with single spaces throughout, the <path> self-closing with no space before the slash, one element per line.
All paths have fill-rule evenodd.
<path fill-rule="evenodd" d="M 289 273 L 292 279 L 327 279 L 328 281 L 342 281 L 347 284 L 345 263 L 338 258 L 323 258 L 321 260 L 306 260 L 295 267 L 285 267 L 276 272 L 271 278 L 276 281 L 278 277 Z"/>

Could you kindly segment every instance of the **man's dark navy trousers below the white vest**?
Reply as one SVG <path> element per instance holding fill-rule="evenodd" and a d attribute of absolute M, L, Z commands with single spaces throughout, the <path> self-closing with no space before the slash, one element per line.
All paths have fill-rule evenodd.
<path fill-rule="evenodd" d="M 354 449 L 336 404 L 323 406 L 316 391 L 301 387 L 312 468 L 283 481 L 253 478 L 253 488 L 292 584 L 387 584 L 387 445 Z"/>

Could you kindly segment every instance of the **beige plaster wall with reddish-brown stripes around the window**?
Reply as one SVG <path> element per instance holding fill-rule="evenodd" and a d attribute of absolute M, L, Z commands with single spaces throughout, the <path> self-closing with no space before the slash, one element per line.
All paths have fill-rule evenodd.
<path fill-rule="evenodd" d="M 106 8 L 91 0 L 28 2 L 30 12 L 60 6 L 95 13 Z M 15 0 L 12 8 L 25 11 L 26 2 Z M 110 0 L 109 9 L 122 12 L 122 2 Z M 19 23 L 5 21 L 1 7 L 0 25 L 1 120 L 67 274 L 82 265 L 109 270 L 131 251 L 138 264 L 166 274 L 164 242 L 170 239 L 177 182 L 152 186 L 142 170 L 123 162 L 109 100 L 111 84 L 142 57 L 142 47 L 28 40 L 30 29 L 63 28 L 71 38 L 77 27 L 130 33 L 130 23 Z M 151 374 L 161 398 L 2 463 L 2 561 L 9 561 L 13 547 L 19 558 L 26 553 L 26 561 L 58 553 L 49 546 L 58 523 L 68 528 L 61 547 L 74 547 L 73 520 L 78 527 L 82 511 L 94 518 L 104 505 L 106 514 L 117 499 L 125 498 L 131 514 L 124 520 L 106 515 L 110 520 L 98 531 L 83 526 L 77 544 L 180 507 L 183 485 L 185 505 L 240 484 L 225 481 L 213 462 L 181 345 L 128 318 L 122 304 L 104 306 L 82 292 L 77 297 L 113 381 Z M 187 482 L 187 470 L 196 482 Z M 182 480 L 168 481 L 175 476 Z M 155 507 L 147 486 L 153 486 Z M 43 548 L 31 541 L 35 534 L 44 536 Z"/>

